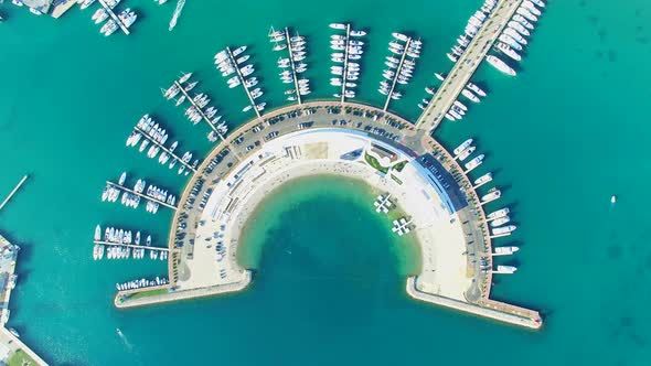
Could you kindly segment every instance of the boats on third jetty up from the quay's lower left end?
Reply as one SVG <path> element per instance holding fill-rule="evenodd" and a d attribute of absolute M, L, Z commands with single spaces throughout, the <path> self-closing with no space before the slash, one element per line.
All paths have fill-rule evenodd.
<path fill-rule="evenodd" d="M 168 133 L 166 129 L 156 122 L 153 118 L 149 115 L 142 116 L 131 134 L 127 138 L 127 146 L 128 147 L 136 147 L 138 142 L 142 139 L 140 143 L 140 148 L 138 151 L 143 152 L 145 149 L 149 146 L 149 150 L 147 151 L 147 157 L 150 159 L 156 158 L 156 155 L 162 150 L 162 153 L 158 158 L 158 162 L 162 165 L 167 164 L 168 161 L 171 162 L 169 164 L 169 169 L 172 169 L 177 165 L 178 162 L 181 162 L 181 166 L 178 170 L 179 174 L 185 173 L 188 175 L 190 173 L 186 169 L 195 169 L 199 165 L 199 159 L 195 159 L 192 164 L 190 164 L 190 160 L 192 160 L 192 153 L 186 151 L 183 153 L 181 158 L 174 155 L 174 150 L 179 146 L 179 141 L 174 141 L 169 149 L 164 147 L 166 141 L 168 140 Z"/>

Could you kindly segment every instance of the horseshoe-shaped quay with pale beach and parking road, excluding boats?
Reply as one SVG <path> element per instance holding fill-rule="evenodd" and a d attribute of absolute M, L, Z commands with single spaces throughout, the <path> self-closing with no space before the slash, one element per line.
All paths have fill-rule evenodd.
<path fill-rule="evenodd" d="M 385 136 L 378 136 L 377 129 Z M 360 155 L 353 153 L 360 151 Z M 399 172 L 382 174 L 364 163 L 366 154 L 387 165 L 408 163 Z M 442 168 L 442 181 L 426 165 Z M 185 186 L 182 208 L 172 219 L 170 284 L 148 289 L 149 295 L 119 291 L 115 305 L 132 308 L 246 289 L 252 272 L 241 268 L 235 252 L 248 214 L 265 193 L 287 180 L 319 173 L 364 180 L 391 193 L 393 202 L 410 215 L 423 256 L 421 272 L 407 279 L 410 297 L 514 325 L 542 326 L 536 311 L 489 298 L 492 274 L 472 260 L 484 257 L 492 268 L 489 227 L 480 198 L 453 157 L 429 131 L 416 129 L 406 119 L 348 101 L 343 107 L 312 101 L 276 109 L 215 146 Z M 423 205 L 423 200 L 430 205 Z M 215 250 L 220 241 L 223 252 Z"/>

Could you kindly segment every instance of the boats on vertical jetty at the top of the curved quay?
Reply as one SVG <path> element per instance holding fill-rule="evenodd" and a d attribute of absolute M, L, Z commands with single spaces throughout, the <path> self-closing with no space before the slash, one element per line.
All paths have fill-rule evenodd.
<path fill-rule="evenodd" d="M 330 73 L 333 75 L 330 78 L 330 85 L 341 89 L 334 93 L 333 97 L 354 98 L 362 67 L 360 61 L 364 53 L 364 42 L 361 37 L 366 35 L 366 32 L 352 30 L 348 23 L 331 23 L 330 28 L 338 31 L 330 36 L 331 60 L 334 63 L 330 67 Z"/>

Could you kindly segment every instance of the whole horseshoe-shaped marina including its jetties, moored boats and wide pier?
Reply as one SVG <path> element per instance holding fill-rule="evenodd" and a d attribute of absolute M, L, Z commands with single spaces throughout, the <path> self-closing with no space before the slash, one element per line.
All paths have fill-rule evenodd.
<path fill-rule="evenodd" d="M 257 86 L 258 78 L 252 75 L 255 67 L 246 64 L 249 55 L 243 54 L 246 45 L 236 49 L 226 46 L 214 58 L 215 67 L 226 78 L 227 86 L 242 87 L 245 92 L 248 104 L 243 111 L 253 111 L 257 116 L 228 136 L 225 136 L 228 126 L 221 120 L 222 116 L 213 119 L 217 110 L 214 106 L 207 107 L 210 97 L 203 93 L 189 94 L 198 83 L 189 82 L 192 73 L 175 79 L 169 88 L 162 89 L 163 96 L 171 100 L 180 95 L 175 105 L 188 101 L 191 105 L 185 109 L 188 118 L 193 123 L 205 122 L 212 129 L 209 140 L 221 140 L 221 143 L 198 166 L 198 159 L 190 162 L 191 152 L 182 157 L 173 153 L 178 142 L 170 148 L 163 146 L 168 136 L 149 116 L 143 117 L 145 123 L 141 119 L 135 127 L 127 144 L 135 147 L 142 138 L 146 141 L 142 141 L 140 151 L 148 143 L 152 144 L 147 153 L 149 158 L 156 157 L 159 150 L 163 151 L 159 158 L 161 164 L 171 159 L 170 168 L 179 163 L 179 174 L 192 172 L 193 175 L 179 205 L 173 204 L 175 197 L 171 197 L 171 205 L 163 202 L 168 196 L 164 190 L 162 198 L 157 200 L 130 191 L 121 183 L 107 182 L 103 200 L 106 196 L 115 202 L 120 192 L 128 192 L 124 202 L 127 205 L 135 207 L 143 197 L 154 212 L 159 205 L 168 205 L 175 211 L 168 248 L 130 245 L 131 232 L 126 230 L 125 234 L 122 229 L 117 236 L 109 233 L 111 240 L 102 241 L 97 239 L 100 237 L 100 228 L 97 227 L 95 244 L 98 257 L 104 245 L 117 249 L 118 258 L 128 256 L 131 248 L 140 255 L 146 249 L 166 256 L 170 254 L 170 283 L 166 280 L 161 284 L 157 279 L 151 286 L 151 281 L 143 279 L 146 289 L 139 288 L 138 281 L 126 283 L 126 287 L 125 283 L 118 284 L 120 291 L 115 299 L 116 306 L 138 306 L 245 289 L 252 281 L 252 274 L 236 262 L 235 252 L 239 230 L 248 213 L 284 180 L 323 172 L 363 179 L 385 193 L 377 202 L 381 211 L 384 200 L 388 198 L 406 212 L 407 217 L 395 224 L 395 230 L 415 235 L 423 255 L 421 273 L 406 281 L 409 295 L 479 316 L 541 327 L 537 312 L 490 299 L 492 274 L 511 273 L 516 269 L 511 266 L 493 269 L 492 256 L 509 255 L 517 248 L 499 247 L 493 250 L 491 239 L 509 235 L 515 226 L 500 226 L 510 220 L 505 216 L 508 208 L 489 216 L 483 211 L 484 204 L 501 194 L 493 187 L 481 198 L 478 196 L 476 189 L 490 182 L 491 173 L 473 182 L 468 177 L 484 155 L 479 154 L 460 166 L 459 161 L 474 151 L 474 147 L 470 146 L 471 139 L 455 149 L 452 155 L 430 137 L 444 119 L 463 118 L 468 108 L 458 100 L 460 96 L 472 103 L 481 101 L 478 96 L 487 96 L 482 88 L 470 82 L 481 61 L 485 58 L 506 75 L 516 75 L 509 63 L 489 52 L 499 37 L 503 43 L 497 43 L 497 51 L 514 61 L 521 58 L 505 44 L 517 50 L 521 50 L 521 44 L 526 44 L 523 36 L 529 31 L 525 28 L 533 30 L 530 21 L 537 20 L 537 15 L 530 12 L 534 11 L 532 8 L 535 7 L 531 2 L 520 0 L 485 1 L 469 20 L 465 34 L 457 39 L 458 45 L 452 47 L 452 53 L 447 54 L 453 62 L 452 68 L 447 76 L 435 74 L 441 82 L 439 87 L 425 88 L 430 97 L 418 105 L 423 114 L 414 123 L 387 110 L 392 100 L 402 97 L 396 86 L 406 85 L 412 77 L 421 51 L 420 40 L 392 33 L 394 40 L 388 43 L 392 54 L 384 58 L 389 68 L 384 71 L 378 88 L 386 101 L 383 109 L 378 109 L 351 103 L 356 98 L 360 60 L 364 52 L 364 41 L 360 37 L 366 32 L 352 29 L 350 23 L 329 25 L 335 32 L 330 40 L 334 63 L 331 66 L 334 77 L 330 78 L 330 84 L 337 89 L 332 96 L 339 99 L 338 103 L 303 103 L 303 97 L 311 93 L 309 78 L 300 76 L 308 66 L 300 62 L 307 54 L 306 40 L 298 33 L 292 35 L 288 28 L 271 29 L 268 35 L 273 50 L 284 54 L 278 60 L 278 67 L 284 69 L 279 74 L 281 83 L 292 85 L 285 92 L 286 98 L 298 106 L 270 112 L 265 110 L 267 103 L 258 99 L 264 92 Z M 535 13 L 540 11 L 535 10 Z M 505 22 L 508 19 L 514 22 Z M 142 189 L 141 185 L 143 183 L 139 189 Z M 490 227 L 489 219 L 492 220 Z M 122 234 L 126 235 L 126 243 Z M 139 241 L 138 234 L 136 241 Z M 206 241 L 216 243 L 216 250 L 209 248 Z M 156 258 L 156 255 L 152 257 Z M 125 288 L 129 290 L 122 290 Z"/>

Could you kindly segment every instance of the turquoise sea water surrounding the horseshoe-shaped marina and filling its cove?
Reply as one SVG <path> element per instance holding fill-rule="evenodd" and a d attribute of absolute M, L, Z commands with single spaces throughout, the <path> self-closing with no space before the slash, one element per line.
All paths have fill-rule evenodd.
<path fill-rule="evenodd" d="M 345 7 L 256 0 L 243 8 L 193 1 L 169 33 L 173 3 L 141 1 L 129 3 L 142 18 L 132 35 L 108 39 L 92 23 L 93 10 L 54 21 L 0 6 L 9 19 L 0 24 L 0 194 L 32 175 L 0 213 L 0 230 L 23 247 L 10 325 L 55 365 L 648 365 L 651 9 L 642 0 L 553 1 L 519 76 L 482 66 L 474 79 L 491 95 L 466 120 L 436 132 L 448 147 L 472 136 L 487 153 L 482 170 L 495 172 L 522 247 L 500 261 L 520 270 L 497 278 L 493 297 L 540 309 L 541 332 L 407 299 L 403 254 L 386 227 L 365 208 L 361 191 L 330 181 L 301 182 L 295 189 L 303 194 L 279 194 L 260 211 L 268 219 L 249 233 L 250 245 L 262 248 L 249 291 L 134 311 L 111 305 L 115 282 L 161 274 L 164 266 L 94 262 L 95 225 L 131 225 L 162 241 L 171 216 L 103 204 L 104 181 L 128 170 L 172 191 L 184 184 L 124 148 L 130 127 L 156 112 L 182 147 L 210 149 L 207 130 L 192 128 L 162 100 L 159 86 L 194 71 L 199 88 L 228 120 L 243 123 L 250 117 L 239 112 L 245 96 L 212 69 L 212 54 L 248 44 L 269 105 L 280 106 L 277 56 L 266 33 L 271 24 L 291 25 L 309 39 L 313 97 L 326 97 L 332 92 L 327 24 L 349 20 L 369 31 L 359 93 L 366 103 L 382 101 L 375 89 L 391 32 L 423 37 L 415 78 L 392 105 L 415 118 L 423 87 L 450 67 L 445 52 L 479 3 L 407 0 L 397 9 L 370 0 Z M 332 198 L 318 194 L 324 187 Z M 345 248 L 332 247 L 340 237 L 323 220 L 346 237 L 373 240 L 340 254 Z"/>

